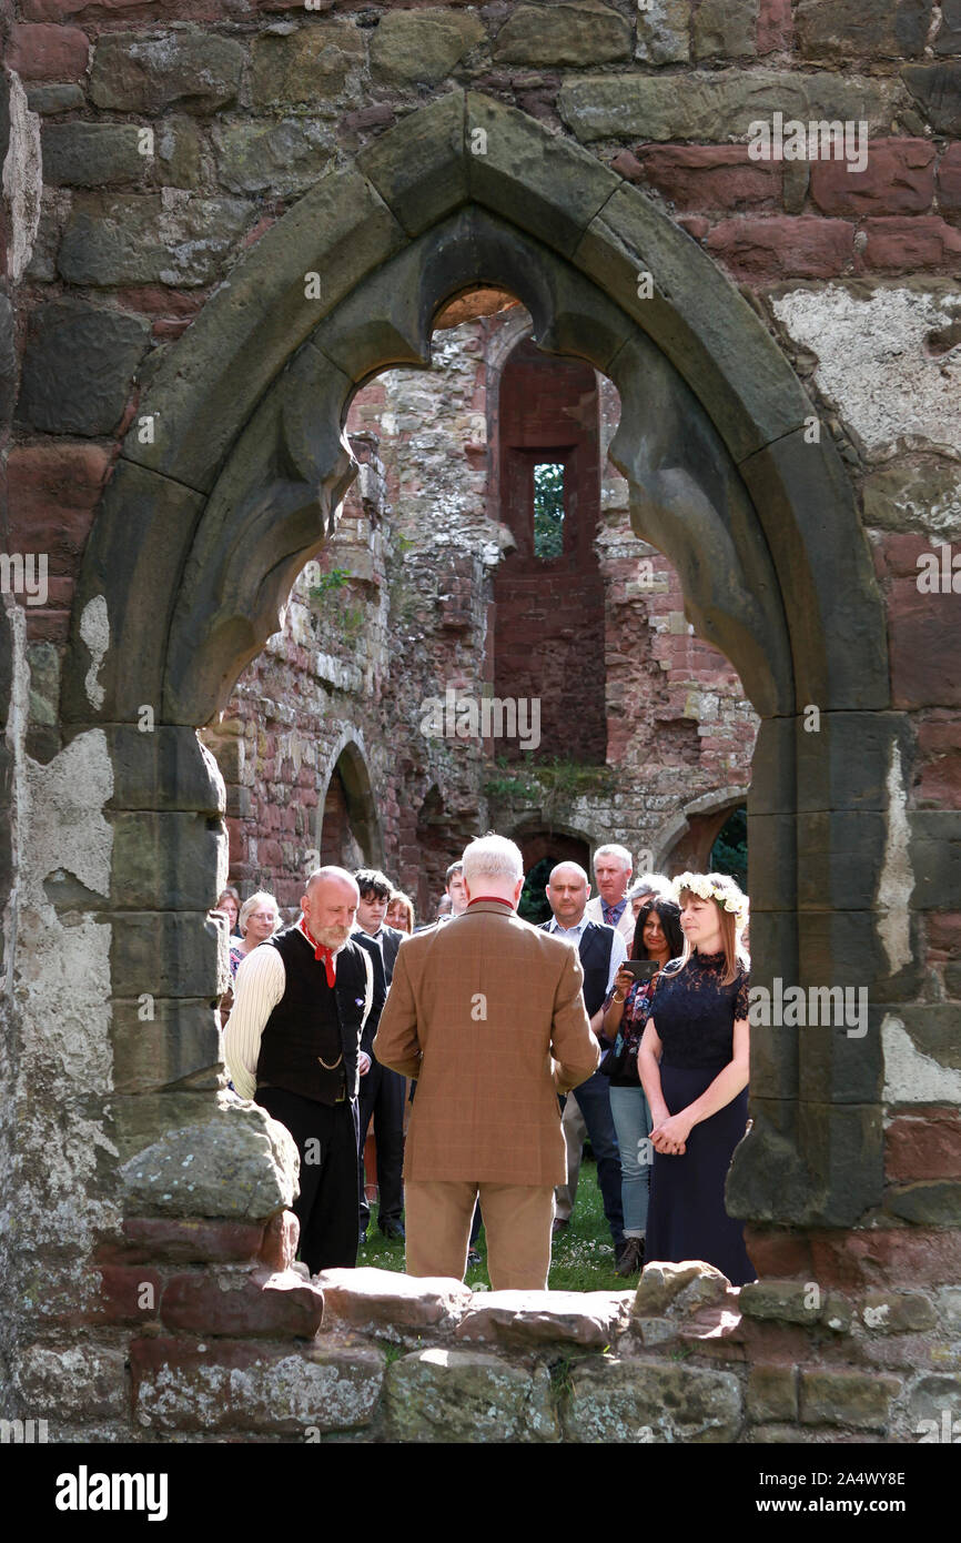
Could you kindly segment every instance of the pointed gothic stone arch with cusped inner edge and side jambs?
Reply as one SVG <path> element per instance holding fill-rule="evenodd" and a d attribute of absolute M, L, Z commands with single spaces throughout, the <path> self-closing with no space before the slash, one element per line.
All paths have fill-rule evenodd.
<path fill-rule="evenodd" d="M 170 1025 L 164 1091 L 117 1116 L 122 1157 L 214 1103 L 184 1091 L 191 1068 L 217 1060 L 197 1008 L 221 984 L 204 912 L 221 881 L 222 795 L 194 728 L 333 526 L 353 474 L 352 392 L 378 370 L 424 367 L 438 307 L 478 282 L 523 301 L 541 347 L 615 383 L 612 458 L 634 528 L 676 565 L 690 620 L 762 716 L 756 978 L 902 995 L 907 910 L 879 900 L 902 727 L 830 435 L 808 443 L 814 409 L 774 341 L 642 193 L 524 114 L 454 91 L 324 176 L 242 258 L 157 369 L 140 404 L 154 443 L 131 430 L 97 514 L 63 711 L 69 733 L 100 730 L 113 758 L 114 1003 L 148 980 Z M 153 734 L 137 733 L 142 704 Z M 804 728 L 808 705 L 818 733 Z M 768 1228 L 858 1224 L 881 1200 L 879 1097 L 873 1020 L 865 1040 L 759 1029 L 731 1207 Z M 231 1111 L 234 1129 L 245 1119 Z"/>

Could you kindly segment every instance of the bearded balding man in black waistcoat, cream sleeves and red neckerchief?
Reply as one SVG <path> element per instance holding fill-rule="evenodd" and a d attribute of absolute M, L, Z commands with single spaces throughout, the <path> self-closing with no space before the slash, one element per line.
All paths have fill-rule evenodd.
<path fill-rule="evenodd" d="M 307 880 L 296 926 L 238 969 L 224 1057 L 242 1099 L 287 1126 L 301 1154 L 301 1259 L 312 1275 L 356 1265 L 361 1031 L 373 997 L 370 955 L 350 941 L 358 887 L 339 867 Z"/>

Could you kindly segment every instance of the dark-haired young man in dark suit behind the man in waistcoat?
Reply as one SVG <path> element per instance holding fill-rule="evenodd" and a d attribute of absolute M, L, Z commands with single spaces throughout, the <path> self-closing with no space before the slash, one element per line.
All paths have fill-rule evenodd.
<path fill-rule="evenodd" d="M 404 1079 L 373 1058 L 373 1035 L 393 977 L 393 963 L 406 934 L 384 926 L 393 887 L 378 869 L 358 869 L 353 875 L 361 898 L 356 907 L 353 941 L 373 960 L 373 1003 L 361 1049 L 370 1055 L 370 1069 L 361 1077 L 358 1100 L 358 1151 L 361 1174 L 359 1242 L 367 1241 L 370 1205 L 364 1194 L 364 1142 L 373 1119 L 376 1140 L 376 1183 L 379 1190 L 378 1227 L 386 1237 L 404 1237 Z"/>

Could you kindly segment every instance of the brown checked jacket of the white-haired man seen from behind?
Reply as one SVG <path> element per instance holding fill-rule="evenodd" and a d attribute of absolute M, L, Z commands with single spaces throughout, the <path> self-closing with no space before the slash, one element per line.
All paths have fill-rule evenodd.
<path fill-rule="evenodd" d="M 577 949 L 480 900 L 401 943 L 373 1042 L 416 1077 L 404 1176 L 563 1183 L 557 1092 L 600 1060 Z"/>

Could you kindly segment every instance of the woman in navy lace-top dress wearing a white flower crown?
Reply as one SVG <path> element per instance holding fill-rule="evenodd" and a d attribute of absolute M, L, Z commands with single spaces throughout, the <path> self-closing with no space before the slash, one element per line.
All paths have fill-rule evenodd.
<path fill-rule="evenodd" d="M 654 1167 L 646 1258 L 703 1259 L 733 1285 L 756 1279 L 723 1185 L 748 1123 L 747 900 L 722 873 L 674 880 L 683 954 L 660 972 L 637 1066 Z"/>

